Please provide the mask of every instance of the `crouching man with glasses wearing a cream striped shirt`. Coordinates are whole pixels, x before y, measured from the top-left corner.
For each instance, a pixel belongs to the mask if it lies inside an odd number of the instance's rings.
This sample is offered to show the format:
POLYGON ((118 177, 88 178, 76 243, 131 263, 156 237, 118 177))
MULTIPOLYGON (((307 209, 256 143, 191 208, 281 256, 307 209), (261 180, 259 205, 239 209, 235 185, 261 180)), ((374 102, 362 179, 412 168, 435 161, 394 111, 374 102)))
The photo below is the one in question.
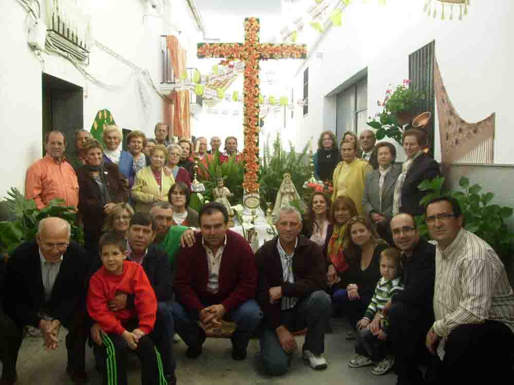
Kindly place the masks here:
POLYGON ((454 198, 432 200, 426 218, 437 242, 435 322, 426 341, 434 380, 479 383, 480 376, 490 378, 488 370, 506 378, 512 373, 514 293, 505 268, 491 246, 463 228, 454 198))

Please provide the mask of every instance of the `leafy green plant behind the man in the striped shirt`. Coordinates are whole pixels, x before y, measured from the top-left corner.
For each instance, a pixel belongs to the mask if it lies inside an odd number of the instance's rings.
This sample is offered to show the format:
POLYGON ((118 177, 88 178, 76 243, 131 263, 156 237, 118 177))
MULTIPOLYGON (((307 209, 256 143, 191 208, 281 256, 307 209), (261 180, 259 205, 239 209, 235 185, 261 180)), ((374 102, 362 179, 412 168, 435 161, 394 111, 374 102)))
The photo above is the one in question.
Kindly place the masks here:
MULTIPOLYGON (((439 197, 453 197, 457 199, 464 215, 464 228, 479 236, 498 253, 500 258, 508 258, 512 253, 511 241, 514 234, 505 223, 510 218, 513 209, 507 206, 490 204, 494 198, 492 192, 480 194, 482 187, 479 184, 470 186, 469 179, 462 177, 457 190, 443 190, 444 177, 438 177, 431 181, 426 180, 419 184, 423 191, 431 190, 421 201, 426 206, 432 199, 439 197)), ((416 217, 421 235, 428 235, 428 227, 425 224, 425 215, 416 217)))

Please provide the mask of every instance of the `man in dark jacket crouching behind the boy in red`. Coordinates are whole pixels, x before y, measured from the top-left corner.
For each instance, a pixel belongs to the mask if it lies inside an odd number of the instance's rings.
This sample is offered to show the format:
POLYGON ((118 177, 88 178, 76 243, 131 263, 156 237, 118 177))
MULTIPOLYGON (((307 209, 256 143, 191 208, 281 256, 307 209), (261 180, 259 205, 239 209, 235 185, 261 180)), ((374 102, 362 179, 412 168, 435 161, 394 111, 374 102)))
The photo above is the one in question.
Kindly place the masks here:
MULTIPOLYGON (((155 229, 156 222, 149 214, 136 213, 132 217, 128 229, 130 255, 127 259, 143 266, 157 297, 157 317, 150 337, 162 356, 164 377, 169 385, 174 385, 176 383, 176 362, 172 350, 173 334, 175 333, 171 308, 172 277, 168 255, 152 245, 155 239, 155 229)), ((119 293, 113 301, 109 302, 108 306, 112 311, 119 311, 127 306, 133 307, 134 298, 125 293, 119 293)), ((93 329, 93 334, 99 333, 97 324, 93 329)), ((102 362, 98 363, 103 364, 102 362)))

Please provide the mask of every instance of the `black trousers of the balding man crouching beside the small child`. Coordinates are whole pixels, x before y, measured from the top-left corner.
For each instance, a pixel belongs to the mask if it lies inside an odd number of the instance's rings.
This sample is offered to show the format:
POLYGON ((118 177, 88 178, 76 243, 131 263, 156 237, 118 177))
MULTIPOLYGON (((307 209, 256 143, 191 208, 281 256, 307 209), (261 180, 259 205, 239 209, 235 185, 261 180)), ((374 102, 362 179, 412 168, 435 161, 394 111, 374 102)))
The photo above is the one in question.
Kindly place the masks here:
POLYGON ((395 303, 387 313, 389 335, 393 342, 394 370, 400 384, 422 383, 419 364, 430 364, 426 347, 427 333, 434 322, 433 313, 403 303, 395 303))

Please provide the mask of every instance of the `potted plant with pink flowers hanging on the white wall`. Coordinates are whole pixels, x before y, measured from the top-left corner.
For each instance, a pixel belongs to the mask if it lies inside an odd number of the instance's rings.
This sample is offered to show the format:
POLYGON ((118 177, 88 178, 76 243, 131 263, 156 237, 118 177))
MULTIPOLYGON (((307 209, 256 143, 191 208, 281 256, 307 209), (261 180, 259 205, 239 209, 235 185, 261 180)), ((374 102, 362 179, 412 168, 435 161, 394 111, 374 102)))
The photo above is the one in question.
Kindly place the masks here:
POLYGON ((377 140, 388 137, 402 144, 404 126, 412 122, 417 105, 425 99, 424 92, 413 90, 409 87, 410 84, 409 79, 403 80, 403 84, 396 86, 394 90, 386 90, 383 102, 377 102, 383 110, 375 115, 375 119, 368 122, 370 127, 377 130, 377 140))

